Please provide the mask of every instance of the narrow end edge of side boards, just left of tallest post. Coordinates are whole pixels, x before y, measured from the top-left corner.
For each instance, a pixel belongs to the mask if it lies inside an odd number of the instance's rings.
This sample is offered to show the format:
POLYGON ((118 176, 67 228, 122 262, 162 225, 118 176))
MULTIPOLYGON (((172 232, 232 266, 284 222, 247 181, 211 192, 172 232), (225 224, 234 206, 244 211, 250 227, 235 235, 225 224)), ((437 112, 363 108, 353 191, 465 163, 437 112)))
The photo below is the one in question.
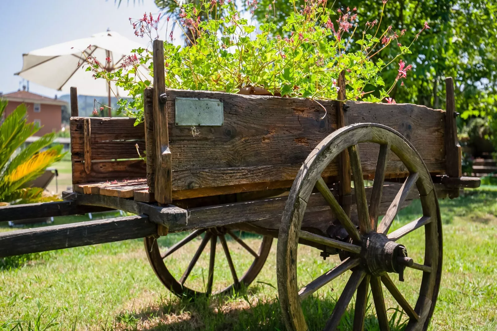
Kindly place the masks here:
POLYGON ((149 192, 155 187, 155 137, 154 137, 154 89, 145 88, 143 92, 143 109, 145 113, 145 150, 147 151, 147 185, 149 192))

